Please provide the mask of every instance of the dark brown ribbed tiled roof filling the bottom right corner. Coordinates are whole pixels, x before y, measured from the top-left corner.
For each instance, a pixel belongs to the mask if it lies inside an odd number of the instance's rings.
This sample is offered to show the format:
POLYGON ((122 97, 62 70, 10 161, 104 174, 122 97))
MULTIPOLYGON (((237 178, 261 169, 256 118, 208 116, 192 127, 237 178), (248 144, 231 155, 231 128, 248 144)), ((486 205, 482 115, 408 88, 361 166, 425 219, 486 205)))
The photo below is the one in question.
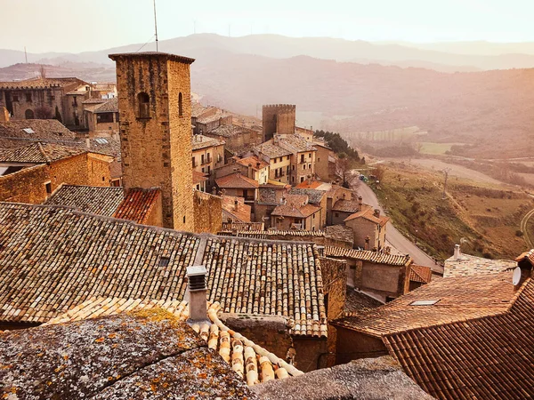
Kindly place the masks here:
MULTIPOLYGON (((456 278, 442 281, 449 279, 456 278)), ((528 279, 522 288, 507 310, 384 336, 386 348, 410 378, 438 399, 531 398, 534 282, 528 279)))

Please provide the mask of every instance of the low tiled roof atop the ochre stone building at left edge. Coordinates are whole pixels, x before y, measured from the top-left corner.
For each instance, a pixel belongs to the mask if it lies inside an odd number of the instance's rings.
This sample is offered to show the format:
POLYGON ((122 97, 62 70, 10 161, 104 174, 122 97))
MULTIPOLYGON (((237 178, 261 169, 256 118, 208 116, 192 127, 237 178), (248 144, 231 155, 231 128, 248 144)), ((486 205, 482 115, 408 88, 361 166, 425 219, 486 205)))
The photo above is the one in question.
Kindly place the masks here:
POLYGON ((61 158, 80 155, 86 151, 82 148, 37 142, 23 148, 0 149, 0 163, 52 163, 61 158))

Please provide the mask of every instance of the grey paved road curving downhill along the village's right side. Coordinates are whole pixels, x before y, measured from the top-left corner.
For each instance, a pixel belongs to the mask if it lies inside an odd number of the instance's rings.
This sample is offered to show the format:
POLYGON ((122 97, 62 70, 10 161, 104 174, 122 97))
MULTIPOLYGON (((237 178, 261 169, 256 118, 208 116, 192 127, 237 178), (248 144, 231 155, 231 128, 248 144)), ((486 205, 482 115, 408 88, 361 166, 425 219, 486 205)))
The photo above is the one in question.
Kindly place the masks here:
MULTIPOLYGON (((384 212, 384 209, 378 203, 378 199, 376 198, 375 192, 373 192, 372 188, 369 188, 368 185, 360 181, 356 191, 358 192, 358 195, 363 198, 363 203, 372 205, 373 207, 379 209, 380 212, 384 212)), ((534 212, 534 210, 532 210, 532 212, 534 212)), ((401 232, 399 232, 397 228, 393 226, 391 221, 387 223, 387 231, 385 235, 386 240, 395 249, 403 254, 409 254, 417 265, 430 267, 432 268, 433 272, 438 274, 443 273, 443 268, 441 265, 436 264, 432 257, 423 252, 417 247, 416 244, 411 243, 409 239, 403 236, 401 232)))

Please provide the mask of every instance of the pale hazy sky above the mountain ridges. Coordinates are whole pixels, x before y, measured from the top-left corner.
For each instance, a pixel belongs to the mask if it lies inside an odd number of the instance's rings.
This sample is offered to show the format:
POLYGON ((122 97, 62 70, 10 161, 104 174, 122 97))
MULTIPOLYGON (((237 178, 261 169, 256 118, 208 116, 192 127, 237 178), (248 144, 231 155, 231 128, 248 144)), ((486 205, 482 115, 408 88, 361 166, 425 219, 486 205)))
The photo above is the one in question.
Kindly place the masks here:
MULTIPOLYGON (((145 43, 152 0, 0 0, 0 48, 84 52, 145 43)), ((197 33, 368 41, 534 41, 532 0, 157 0, 159 39, 197 33), (196 23, 195 23, 196 21, 196 23)))

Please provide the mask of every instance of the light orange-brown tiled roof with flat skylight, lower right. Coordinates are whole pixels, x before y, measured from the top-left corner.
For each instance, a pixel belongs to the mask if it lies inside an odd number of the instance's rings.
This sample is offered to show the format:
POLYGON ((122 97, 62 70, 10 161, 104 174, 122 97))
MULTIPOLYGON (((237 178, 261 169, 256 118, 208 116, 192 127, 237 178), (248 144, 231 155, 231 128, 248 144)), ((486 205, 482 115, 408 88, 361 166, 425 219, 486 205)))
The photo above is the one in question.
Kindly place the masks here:
POLYGON ((380 308, 332 324, 371 336, 467 321, 505 312, 514 300, 512 273, 438 279, 380 308), (411 305, 434 301, 433 305, 411 305))

